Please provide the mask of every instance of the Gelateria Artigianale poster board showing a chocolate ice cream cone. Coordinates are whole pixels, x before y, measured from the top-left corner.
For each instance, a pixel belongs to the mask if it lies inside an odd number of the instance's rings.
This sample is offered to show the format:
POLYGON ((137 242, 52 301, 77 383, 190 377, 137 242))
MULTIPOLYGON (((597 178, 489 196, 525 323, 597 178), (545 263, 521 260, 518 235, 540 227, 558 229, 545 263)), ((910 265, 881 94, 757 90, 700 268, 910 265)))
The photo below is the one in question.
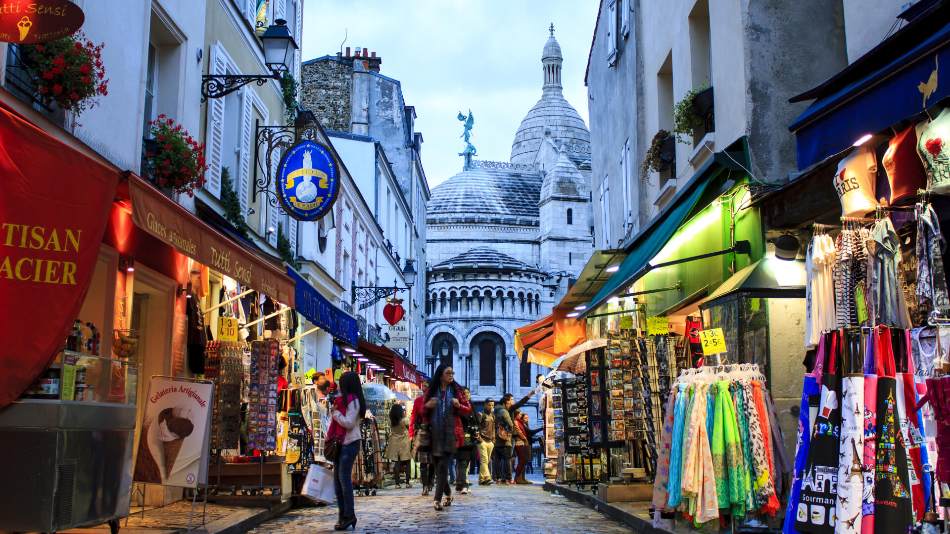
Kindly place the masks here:
POLYGON ((214 383, 153 376, 146 399, 133 480, 162 486, 204 484, 214 383))

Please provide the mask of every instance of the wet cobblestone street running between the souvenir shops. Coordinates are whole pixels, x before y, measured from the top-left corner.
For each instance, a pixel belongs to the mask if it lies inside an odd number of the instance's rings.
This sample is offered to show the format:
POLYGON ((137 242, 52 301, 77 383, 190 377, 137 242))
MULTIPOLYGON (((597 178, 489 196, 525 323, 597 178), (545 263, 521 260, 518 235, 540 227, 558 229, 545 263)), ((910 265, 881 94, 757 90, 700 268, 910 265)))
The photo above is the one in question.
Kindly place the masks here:
MULTIPOLYGON (((444 511, 432 509, 432 498, 420 495, 422 486, 380 490, 372 497, 356 497, 357 532, 447 532, 458 534, 522 534, 587 532, 630 533, 631 529, 599 512, 577 505, 542 489, 540 477, 531 486, 474 486, 469 495, 456 495, 444 511)), ((261 524, 251 534, 316 534, 333 532, 336 505, 297 508, 261 524)))

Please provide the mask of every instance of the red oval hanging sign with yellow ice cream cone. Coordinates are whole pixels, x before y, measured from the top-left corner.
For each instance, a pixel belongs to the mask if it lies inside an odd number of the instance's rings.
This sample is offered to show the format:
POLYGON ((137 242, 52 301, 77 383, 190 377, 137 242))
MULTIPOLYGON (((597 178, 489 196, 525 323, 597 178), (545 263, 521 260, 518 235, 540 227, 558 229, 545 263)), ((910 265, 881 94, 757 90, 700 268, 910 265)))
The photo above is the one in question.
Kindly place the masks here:
POLYGON ((29 45, 72 35, 85 13, 69 0, 4 0, 0 4, 0 41, 29 45))

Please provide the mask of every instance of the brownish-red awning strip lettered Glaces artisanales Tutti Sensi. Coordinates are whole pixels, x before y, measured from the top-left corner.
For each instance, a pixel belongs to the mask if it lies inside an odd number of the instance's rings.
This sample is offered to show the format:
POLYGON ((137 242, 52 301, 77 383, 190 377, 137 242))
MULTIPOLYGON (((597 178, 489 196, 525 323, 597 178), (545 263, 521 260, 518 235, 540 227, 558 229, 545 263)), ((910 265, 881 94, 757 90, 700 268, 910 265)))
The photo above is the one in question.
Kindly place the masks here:
POLYGON ((142 178, 132 175, 128 189, 136 226, 202 265, 294 307, 294 280, 282 270, 226 238, 142 178))

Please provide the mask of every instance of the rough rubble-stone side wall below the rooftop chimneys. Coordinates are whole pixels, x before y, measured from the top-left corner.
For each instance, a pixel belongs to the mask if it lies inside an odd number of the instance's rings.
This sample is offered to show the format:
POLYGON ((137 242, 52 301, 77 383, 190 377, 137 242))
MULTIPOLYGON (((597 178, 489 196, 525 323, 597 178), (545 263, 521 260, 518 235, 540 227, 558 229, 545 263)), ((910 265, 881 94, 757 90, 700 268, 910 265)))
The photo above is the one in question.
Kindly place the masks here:
POLYGON ((301 105, 314 112, 324 129, 350 132, 352 64, 326 58, 300 69, 301 105))

